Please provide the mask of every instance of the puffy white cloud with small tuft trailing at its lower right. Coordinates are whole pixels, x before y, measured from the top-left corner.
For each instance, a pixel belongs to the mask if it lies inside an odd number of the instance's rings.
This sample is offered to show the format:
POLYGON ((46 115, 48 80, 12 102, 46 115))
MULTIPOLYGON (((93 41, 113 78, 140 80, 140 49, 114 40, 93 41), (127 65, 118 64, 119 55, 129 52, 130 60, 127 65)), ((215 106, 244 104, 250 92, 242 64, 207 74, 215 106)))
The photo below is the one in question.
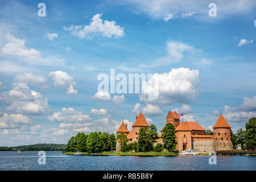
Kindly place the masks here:
POLYGON ((68 73, 63 71, 50 72, 49 77, 54 81, 53 84, 56 88, 67 90, 67 94, 77 94, 77 90, 73 88, 76 82, 73 77, 69 76, 68 73))

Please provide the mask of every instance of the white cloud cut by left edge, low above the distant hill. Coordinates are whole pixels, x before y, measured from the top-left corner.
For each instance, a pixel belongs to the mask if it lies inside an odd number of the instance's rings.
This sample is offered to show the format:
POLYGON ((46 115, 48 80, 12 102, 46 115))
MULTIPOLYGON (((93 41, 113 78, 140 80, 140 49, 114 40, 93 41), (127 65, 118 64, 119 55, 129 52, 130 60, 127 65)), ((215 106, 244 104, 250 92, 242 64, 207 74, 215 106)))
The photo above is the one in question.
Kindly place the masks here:
POLYGON ((3 116, 0 117, 0 129, 15 129, 31 123, 33 123, 33 121, 26 115, 22 114, 8 115, 3 113, 3 116))

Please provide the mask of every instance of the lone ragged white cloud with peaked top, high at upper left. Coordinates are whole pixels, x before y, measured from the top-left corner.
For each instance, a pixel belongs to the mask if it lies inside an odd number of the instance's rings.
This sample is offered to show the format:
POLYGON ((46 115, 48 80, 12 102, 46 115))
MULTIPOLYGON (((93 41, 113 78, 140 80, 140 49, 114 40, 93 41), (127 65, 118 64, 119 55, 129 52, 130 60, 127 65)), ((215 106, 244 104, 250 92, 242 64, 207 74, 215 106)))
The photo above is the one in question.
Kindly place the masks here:
POLYGON ((115 36, 116 38, 122 37, 125 35, 123 27, 115 25, 115 21, 109 22, 108 20, 101 19, 102 14, 96 14, 91 19, 89 25, 84 27, 82 26, 73 26, 67 28, 63 27, 65 31, 70 31, 71 35, 78 36, 79 38, 92 38, 94 35, 102 34, 105 37, 111 38, 115 36))

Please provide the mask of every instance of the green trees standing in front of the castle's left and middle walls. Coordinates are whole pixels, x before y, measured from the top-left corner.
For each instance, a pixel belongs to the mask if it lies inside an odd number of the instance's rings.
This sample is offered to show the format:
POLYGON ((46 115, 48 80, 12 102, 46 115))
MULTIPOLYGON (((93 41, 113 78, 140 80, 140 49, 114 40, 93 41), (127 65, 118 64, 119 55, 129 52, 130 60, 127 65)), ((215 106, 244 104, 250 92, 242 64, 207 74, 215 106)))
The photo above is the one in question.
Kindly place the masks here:
POLYGON ((149 130, 147 127, 141 127, 141 129, 139 129, 138 142, 128 144, 125 133, 122 132, 117 135, 117 140, 121 146, 121 152, 161 152, 164 148, 170 152, 175 151, 177 142, 175 139, 174 125, 167 123, 163 129, 161 138, 163 140, 163 144, 157 143, 156 146, 154 146, 156 140, 159 139, 155 125, 150 125, 149 130))

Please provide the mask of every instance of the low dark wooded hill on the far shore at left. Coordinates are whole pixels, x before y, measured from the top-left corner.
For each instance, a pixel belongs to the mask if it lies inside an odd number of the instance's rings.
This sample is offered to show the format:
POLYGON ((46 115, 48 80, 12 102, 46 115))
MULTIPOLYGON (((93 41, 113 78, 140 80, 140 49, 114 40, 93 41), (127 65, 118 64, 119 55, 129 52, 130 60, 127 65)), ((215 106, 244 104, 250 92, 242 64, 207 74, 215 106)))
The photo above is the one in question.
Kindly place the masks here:
POLYGON ((65 144, 56 143, 38 143, 28 146, 16 146, 16 147, 0 147, 0 151, 63 151, 65 144))

